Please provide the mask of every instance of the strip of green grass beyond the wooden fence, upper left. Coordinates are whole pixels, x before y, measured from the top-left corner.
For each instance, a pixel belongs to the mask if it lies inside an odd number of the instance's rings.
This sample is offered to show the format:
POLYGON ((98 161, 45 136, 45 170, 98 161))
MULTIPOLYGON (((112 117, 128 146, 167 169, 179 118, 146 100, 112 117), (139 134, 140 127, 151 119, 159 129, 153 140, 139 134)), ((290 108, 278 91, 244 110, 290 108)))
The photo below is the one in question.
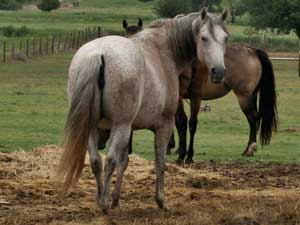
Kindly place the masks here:
POLYGON ((137 0, 88 0, 80 2, 78 8, 60 8, 50 13, 29 6, 18 11, 1 11, 0 27, 26 25, 37 34, 82 30, 88 26, 120 31, 124 18, 129 23, 137 23, 139 17, 145 24, 155 18, 152 3, 137 0))

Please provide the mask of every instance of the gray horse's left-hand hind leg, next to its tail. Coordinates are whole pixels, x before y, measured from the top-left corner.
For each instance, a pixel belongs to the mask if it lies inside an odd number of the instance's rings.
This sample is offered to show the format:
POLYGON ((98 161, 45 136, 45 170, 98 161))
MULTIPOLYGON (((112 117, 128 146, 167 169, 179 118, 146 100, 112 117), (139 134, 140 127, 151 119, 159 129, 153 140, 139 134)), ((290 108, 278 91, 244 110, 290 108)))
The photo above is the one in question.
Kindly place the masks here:
POLYGON ((93 174, 97 183, 97 202, 100 200, 102 191, 102 159, 97 152, 99 134, 97 129, 91 131, 89 136, 89 155, 93 174))

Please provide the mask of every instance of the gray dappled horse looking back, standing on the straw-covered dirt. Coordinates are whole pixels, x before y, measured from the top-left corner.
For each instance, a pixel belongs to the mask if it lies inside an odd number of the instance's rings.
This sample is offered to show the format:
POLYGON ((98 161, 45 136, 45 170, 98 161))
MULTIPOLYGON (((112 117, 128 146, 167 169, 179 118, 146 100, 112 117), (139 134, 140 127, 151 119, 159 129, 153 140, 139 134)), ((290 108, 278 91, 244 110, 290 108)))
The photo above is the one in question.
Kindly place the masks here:
POLYGON ((69 68, 70 108, 58 167, 58 176, 65 178, 65 190, 79 179, 88 149, 99 207, 103 212, 109 208, 115 167, 111 207, 118 206, 131 129, 151 129, 155 134, 155 199, 160 208, 165 207, 165 152, 178 105, 178 77, 198 58, 208 65, 212 80, 223 79, 226 17, 227 12, 218 17, 202 9, 156 21, 130 39, 106 36, 93 40, 76 52, 69 68), (102 185, 102 159, 97 147, 102 138, 99 130, 105 129, 111 132, 102 185))

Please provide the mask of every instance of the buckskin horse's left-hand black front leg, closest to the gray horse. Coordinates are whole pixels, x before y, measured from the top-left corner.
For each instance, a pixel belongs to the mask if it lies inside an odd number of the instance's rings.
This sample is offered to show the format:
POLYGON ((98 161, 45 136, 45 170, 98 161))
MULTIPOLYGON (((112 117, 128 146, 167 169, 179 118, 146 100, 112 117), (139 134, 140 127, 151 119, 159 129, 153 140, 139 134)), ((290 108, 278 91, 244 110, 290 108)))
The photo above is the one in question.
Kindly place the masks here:
POLYGON ((178 108, 175 116, 175 124, 179 136, 179 146, 178 146, 178 159, 177 163, 183 163, 186 156, 186 132, 187 132, 187 116, 184 112, 183 99, 180 98, 178 102, 178 108))

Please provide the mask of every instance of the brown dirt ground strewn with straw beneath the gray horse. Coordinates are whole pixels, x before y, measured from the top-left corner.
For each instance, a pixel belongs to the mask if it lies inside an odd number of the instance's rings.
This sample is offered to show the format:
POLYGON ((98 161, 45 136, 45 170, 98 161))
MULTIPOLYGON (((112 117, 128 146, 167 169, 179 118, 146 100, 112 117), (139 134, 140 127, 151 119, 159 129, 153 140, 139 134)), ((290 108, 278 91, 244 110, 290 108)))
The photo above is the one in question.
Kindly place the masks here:
POLYGON ((300 165, 167 164, 169 210, 154 201, 152 161, 130 156, 121 206, 99 212, 86 160, 80 182, 67 195, 53 180, 61 149, 0 153, 0 224, 300 224, 300 165))

